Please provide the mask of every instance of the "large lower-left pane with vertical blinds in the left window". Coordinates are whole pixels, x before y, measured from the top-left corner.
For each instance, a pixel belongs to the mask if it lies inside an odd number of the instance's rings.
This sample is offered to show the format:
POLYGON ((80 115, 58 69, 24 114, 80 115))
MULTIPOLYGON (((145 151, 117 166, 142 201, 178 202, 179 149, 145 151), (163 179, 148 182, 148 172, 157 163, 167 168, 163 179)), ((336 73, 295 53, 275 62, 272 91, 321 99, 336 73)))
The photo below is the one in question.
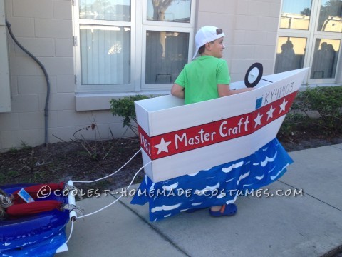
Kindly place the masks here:
POLYGON ((130 84, 130 28, 80 25, 82 84, 130 84))

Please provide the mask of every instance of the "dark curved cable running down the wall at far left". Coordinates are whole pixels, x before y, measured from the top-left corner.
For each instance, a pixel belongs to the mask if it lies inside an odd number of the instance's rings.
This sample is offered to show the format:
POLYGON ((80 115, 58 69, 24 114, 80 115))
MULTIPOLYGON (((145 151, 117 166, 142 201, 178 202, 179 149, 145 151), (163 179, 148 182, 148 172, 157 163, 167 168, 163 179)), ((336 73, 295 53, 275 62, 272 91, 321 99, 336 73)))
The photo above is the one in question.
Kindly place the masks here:
POLYGON ((48 73, 46 72, 46 69, 43 66, 43 64, 41 63, 41 61, 39 61, 36 58, 36 56, 33 56, 33 54, 31 54, 29 51, 27 51, 24 48, 24 46, 21 46, 21 44, 16 40, 16 37, 13 35, 13 33, 11 31, 11 24, 7 20, 6 20, 6 26, 7 26, 7 29, 9 30, 9 34, 11 35, 11 38, 14 40, 14 42, 21 48, 21 50, 23 50, 26 54, 28 54, 28 56, 31 56, 31 58, 34 61, 36 61, 36 63, 43 70, 43 73, 44 73, 44 76, 45 76, 45 79, 46 79, 46 86, 47 86, 46 101, 45 101, 45 108, 44 108, 44 116, 45 116, 45 146, 48 146, 48 100, 50 98, 50 81, 48 79, 48 73))

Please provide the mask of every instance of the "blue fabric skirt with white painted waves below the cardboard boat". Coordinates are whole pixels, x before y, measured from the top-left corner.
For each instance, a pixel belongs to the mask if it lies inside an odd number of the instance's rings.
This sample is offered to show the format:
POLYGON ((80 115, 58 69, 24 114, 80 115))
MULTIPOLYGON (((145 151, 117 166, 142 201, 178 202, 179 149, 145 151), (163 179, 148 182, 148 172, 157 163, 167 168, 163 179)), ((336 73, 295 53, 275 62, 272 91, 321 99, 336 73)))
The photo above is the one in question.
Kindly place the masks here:
MULTIPOLYGON (((225 153, 229 154, 229 153, 225 153)), ((190 208, 234 203, 284 175, 293 160, 274 138, 250 156, 185 176, 140 183, 131 204, 149 203, 150 221, 160 221, 190 208)))

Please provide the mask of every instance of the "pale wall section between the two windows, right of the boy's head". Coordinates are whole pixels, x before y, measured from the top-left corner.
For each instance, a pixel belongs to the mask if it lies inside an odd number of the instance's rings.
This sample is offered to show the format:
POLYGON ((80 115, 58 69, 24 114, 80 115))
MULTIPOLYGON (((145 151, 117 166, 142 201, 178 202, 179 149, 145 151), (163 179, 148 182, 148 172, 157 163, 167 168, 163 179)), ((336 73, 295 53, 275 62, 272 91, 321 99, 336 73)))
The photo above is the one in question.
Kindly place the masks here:
POLYGON ((224 30, 224 59, 232 81, 243 80, 256 61, 265 75, 274 73, 281 0, 202 0, 197 8, 197 29, 212 24, 224 30))

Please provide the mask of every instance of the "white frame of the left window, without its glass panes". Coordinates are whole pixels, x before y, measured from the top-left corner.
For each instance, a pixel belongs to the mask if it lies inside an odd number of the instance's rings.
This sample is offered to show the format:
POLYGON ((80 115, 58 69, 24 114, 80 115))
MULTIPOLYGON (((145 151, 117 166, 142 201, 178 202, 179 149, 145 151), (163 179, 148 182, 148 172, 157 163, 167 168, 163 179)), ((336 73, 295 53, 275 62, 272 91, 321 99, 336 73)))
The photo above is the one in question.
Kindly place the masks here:
POLYGON ((155 94, 167 93, 173 84, 145 84, 145 58, 146 58, 146 31, 175 31, 189 33, 188 62, 191 61, 194 29, 195 29, 195 7, 196 1, 191 0, 190 22, 180 23, 172 21, 148 21, 147 0, 131 0, 130 21, 106 21, 79 18, 80 0, 73 4, 73 36, 74 36, 74 74, 76 94, 155 94), (81 84, 81 37, 80 25, 101 26, 129 26, 130 35, 130 84, 115 85, 83 85, 81 84))

